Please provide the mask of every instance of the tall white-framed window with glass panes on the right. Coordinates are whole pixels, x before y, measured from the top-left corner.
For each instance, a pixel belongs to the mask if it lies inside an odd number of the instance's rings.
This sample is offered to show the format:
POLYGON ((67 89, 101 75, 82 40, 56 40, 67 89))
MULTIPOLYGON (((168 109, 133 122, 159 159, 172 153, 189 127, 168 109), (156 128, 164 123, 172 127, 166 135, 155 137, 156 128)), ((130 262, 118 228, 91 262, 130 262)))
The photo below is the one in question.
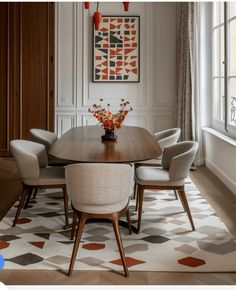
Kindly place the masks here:
POLYGON ((213 4, 213 125, 236 136, 236 2, 213 4))

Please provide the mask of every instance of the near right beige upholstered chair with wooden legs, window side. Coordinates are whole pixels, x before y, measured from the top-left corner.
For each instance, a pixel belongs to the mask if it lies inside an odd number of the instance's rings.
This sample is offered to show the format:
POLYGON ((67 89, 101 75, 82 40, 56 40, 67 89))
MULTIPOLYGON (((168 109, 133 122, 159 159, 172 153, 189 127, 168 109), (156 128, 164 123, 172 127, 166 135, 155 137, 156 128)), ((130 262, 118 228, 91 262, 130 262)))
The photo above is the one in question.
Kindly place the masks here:
POLYGON ((197 149, 197 142, 179 142, 164 148, 162 168, 139 167, 136 169, 135 179, 138 185, 138 231, 140 231, 141 227, 143 194, 145 189, 176 190, 182 202, 183 208, 187 212, 192 229, 195 230, 184 190, 184 180, 188 176, 189 169, 196 156, 197 149))

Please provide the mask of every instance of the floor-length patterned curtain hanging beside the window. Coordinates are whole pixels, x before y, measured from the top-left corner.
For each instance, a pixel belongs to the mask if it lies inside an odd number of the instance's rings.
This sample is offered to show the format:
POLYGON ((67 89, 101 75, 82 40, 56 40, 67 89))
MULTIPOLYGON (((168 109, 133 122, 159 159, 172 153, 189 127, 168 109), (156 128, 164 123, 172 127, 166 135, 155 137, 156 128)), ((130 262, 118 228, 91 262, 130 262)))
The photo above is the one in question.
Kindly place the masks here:
POLYGON ((199 91, 199 7, 199 3, 194 2, 179 3, 176 53, 176 125, 181 128, 181 140, 198 141, 196 165, 203 164, 199 91))

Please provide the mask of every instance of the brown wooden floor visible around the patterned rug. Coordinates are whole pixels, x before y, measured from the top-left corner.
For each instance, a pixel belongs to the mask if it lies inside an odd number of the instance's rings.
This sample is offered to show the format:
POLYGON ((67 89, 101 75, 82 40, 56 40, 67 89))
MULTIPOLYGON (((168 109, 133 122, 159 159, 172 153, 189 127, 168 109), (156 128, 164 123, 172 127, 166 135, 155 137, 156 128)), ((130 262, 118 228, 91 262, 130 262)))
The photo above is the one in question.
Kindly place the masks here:
MULTIPOLYGON (((196 186, 236 236, 236 196, 207 168, 190 173, 196 186)), ((0 218, 8 211, 20 193, 21 185, 14 162, 0 158, 0 218)), ((236 262, 235 262, 236 263, 236 262)), ((0 281, 7 285, 235 285, 236 273, 176 273, 133 272, 125 278, 123 272, 74 271, 69 278, 60 271, 3 270, 0 281)))

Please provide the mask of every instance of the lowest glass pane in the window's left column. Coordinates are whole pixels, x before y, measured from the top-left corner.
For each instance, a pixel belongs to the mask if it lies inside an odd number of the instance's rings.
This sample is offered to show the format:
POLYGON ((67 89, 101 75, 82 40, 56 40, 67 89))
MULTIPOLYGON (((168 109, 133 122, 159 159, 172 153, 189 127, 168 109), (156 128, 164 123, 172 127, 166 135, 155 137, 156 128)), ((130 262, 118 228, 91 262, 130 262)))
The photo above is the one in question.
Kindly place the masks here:
POLYGON ((224 78, 217 78, 213 81, 214 92, 214 115, 218 120, 224 120, 224 78))

